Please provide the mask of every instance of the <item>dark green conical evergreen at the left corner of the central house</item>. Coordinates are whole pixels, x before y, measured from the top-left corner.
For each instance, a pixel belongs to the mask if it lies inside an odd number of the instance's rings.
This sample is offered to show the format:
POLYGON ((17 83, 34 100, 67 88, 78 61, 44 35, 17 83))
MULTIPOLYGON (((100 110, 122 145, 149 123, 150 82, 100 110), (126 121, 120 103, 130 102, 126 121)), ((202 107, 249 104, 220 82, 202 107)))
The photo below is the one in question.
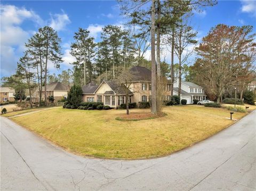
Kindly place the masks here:
POLYGON ((77 108, 79 104, 82 102, 82 94, 83 90, 81 86, 71 86, 67 96, 68 104, 73 105, 74 108, 77 108))

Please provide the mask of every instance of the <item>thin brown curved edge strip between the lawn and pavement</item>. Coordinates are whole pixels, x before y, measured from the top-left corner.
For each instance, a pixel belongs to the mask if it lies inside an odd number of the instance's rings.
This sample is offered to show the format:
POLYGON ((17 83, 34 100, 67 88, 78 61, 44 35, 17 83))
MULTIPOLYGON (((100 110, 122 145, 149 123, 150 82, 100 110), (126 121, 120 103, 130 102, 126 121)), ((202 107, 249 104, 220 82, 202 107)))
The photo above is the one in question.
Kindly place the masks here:
POLYGON ((249 115, 250 113, 254 112, 255 110, 252 110, 251 112, 247 112, 242 118, 240 119, 237 119, 236 121, 233 121, 233 123, 229 124, 227 127, 221 129, 220 131, 216 132, 215 134, 209 136, 209 137, 206 137, 204 139, 201 139, 201 140, 198 140, 197 142, 191 144, 191 145, 188 145, 186 147, 183 147, 181 148, 180 150, 177 150, 177 151, 173 151, 171 153, 167 153, 167 154, 161 154, 161 155, 154 155, 154 156, 148 156, 148 157, 137 157, 137 158, 117 158, 117 157, 100 157, 100 156, 94 156, 94 155, 86 155, 86 154, 81 154, 81 153, 78 153, 78 152, 75 152, 75 151, 72 151, 70 150, 69 148, 65 147, 65 146, 62 146, 56 142, 54 142, 53 140, 51 139, 48 139, 40 134, 38 134, 37 132, 33 131, 33 130, 30 130, 28 129, 27 127, 24 127, 24 126, 21 126, 20 124, 16 123, 15 121, 12 120, 12 118, 8 118, 8 117, 4 117, 4 118, 7 118, 9 120, 11 120, 12 122, 14 122, 15 124, 17 124, 18 126, 32 132, 34 135, 36 135, 37 137, 43 139, 43 140, 46 140, 46 142, 54 145, 54 146, 58 146, 58 148, 61 148, 63 151, 66 151, 68 152, 69 154, 75 154, 77 156, 82 156, 82 157, 85 157, 87 159, 103 159, 103 160, 114 160, 114 161, 119 161, 119 160, 123 160, 123 161, 135 161, 135 160, 150 160, 150 159, 158 159, 158 158, 162 158, 162 157, 165 157, 165 156, 170 156, 172 154, 175 154, 175 153, 179 153, 179 152, 182 152, 184 150, 187 150, 188 148, 190 148, 191 146, 194 146, 198 143, 201 143, 203 142, 204 140, 208 139, 208 138, 211 138, 217 134, 219 134, 221 131, 223 130, 226 130, 228 129, 230 126, 233 126, 233 124, 237 123, 238 121, 240 121, 241 119, 243 119, 244 117, 246 117, 247 115, 249 115))

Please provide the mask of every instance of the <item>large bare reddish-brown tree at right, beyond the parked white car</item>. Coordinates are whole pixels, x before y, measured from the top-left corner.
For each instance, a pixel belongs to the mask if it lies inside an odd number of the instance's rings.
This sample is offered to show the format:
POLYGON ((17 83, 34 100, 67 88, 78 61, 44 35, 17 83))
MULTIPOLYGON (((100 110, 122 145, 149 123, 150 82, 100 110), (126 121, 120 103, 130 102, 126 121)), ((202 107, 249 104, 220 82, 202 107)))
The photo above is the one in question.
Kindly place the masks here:
MULTIPOLYGON (((195 80, 207 87, 206 93, 216 98, 218 103, 227 85, 233 84, 237 87, 241 63, 250 62, 246 54, 255 50, 254 47, 245 48, 247 47, 244 40, 246 35, 245 27, 218 24, 196 48, 199 57, 193 67, 195 80)), ((252 39, 249 41, 252 42, 252 39)), ((255 46, 255 43, 251 45, 255 46)))

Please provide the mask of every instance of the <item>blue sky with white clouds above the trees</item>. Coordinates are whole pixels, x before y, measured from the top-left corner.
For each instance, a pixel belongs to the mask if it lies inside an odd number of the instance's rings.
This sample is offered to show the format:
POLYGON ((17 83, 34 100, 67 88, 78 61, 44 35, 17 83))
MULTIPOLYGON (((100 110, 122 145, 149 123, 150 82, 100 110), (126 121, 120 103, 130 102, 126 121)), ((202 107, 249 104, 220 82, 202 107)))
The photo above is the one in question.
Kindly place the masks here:
MULTIPOLYGON (((88 29, 98 42, 103 26, 124 27, 126 21, 117 1, 1 1, 1 78, 15 73, 17 61, 25 51, 25 43, 40 27, 51 26, 62 40, 64 62, 60 69, 49 66, 50 73, 60 73, 71 69, 70 63, 75 61, 69 51, 78 28, 88 29)), ((194 12, 191 18, 192 26, 198 31, 198 41, 219 23, 252 25, 253 32, 256 32, 256 1, 218 1, 217 5, 194 12)), ((170 52, 165 48, 162 57, 170 64, 170 52)), ((191 63, 194 58, 195 55, 190 57, 191 63)), ((146 52, 146 59, 150 59, 150 50, 146 52)))

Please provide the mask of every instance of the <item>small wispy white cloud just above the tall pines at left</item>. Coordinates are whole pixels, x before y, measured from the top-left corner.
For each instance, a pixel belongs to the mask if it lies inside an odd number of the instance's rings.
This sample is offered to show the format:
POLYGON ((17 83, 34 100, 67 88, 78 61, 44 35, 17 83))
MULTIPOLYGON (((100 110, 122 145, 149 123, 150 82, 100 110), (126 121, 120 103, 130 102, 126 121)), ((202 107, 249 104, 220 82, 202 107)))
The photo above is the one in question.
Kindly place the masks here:
POLYGON ((65 30, 67 24, 70 23, 68 15, 62 11, 62 14, 51 14, 50 27, 54 30, 65 30))

